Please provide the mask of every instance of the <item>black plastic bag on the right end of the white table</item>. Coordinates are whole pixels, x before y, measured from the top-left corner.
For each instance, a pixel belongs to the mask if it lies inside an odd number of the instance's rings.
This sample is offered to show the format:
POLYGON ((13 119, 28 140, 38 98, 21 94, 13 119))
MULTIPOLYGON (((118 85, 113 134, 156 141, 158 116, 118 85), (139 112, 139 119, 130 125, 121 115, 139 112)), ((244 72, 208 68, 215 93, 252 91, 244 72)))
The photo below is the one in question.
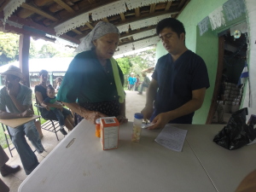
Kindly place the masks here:
POLYGON ((224 126, 222 131, 218 132, 213 142, 229 150, 241 148, 253 142, 256 137, 256 130, 253 129, 253 123, 247 125, 247 114, 247 108, 242 108, 233 113, 228 124, 224 126))

